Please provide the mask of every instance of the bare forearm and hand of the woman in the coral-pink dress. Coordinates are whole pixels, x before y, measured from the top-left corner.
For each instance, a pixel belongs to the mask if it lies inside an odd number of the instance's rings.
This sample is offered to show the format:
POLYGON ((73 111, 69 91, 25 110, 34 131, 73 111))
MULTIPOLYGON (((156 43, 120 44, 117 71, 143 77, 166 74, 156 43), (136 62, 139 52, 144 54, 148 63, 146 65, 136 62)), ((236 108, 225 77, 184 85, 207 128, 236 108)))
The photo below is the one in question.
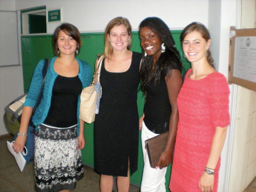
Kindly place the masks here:
MULTIPOLYGON (((214 172, 215 167, 218 163, 220 158, 220 153, 222 151, 225 138, 227 134, 227 127, 216 127, 215 134, 211 144, 211 152, 209 155, 209 159, 206 164, 206 169, 211 170, 214 172)), ((213 191, 213 184, 214 184, 214 175, 208 175, 205 171, 201 175, 199 181, 199 188, 201 191, 213 191)))

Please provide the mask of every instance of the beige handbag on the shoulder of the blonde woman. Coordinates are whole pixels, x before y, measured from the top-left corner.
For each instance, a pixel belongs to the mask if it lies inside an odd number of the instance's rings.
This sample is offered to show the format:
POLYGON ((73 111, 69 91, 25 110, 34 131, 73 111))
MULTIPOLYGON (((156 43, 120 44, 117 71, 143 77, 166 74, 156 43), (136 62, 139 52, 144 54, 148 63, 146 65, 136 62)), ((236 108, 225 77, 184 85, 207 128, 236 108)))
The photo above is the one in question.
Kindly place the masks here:
POLYGON ((95 104, 99 94, 95 91, 94 79, 97 72, 97 82, 100 83, 100 69, 102 60, 103 57, 101 56, 98 60, 98 67, 93 75, 92 83, 90 86, 83 88, 80 96, 81 101, 79 106, 79 119, 87 123, 92 123, 95 120, 95 104))

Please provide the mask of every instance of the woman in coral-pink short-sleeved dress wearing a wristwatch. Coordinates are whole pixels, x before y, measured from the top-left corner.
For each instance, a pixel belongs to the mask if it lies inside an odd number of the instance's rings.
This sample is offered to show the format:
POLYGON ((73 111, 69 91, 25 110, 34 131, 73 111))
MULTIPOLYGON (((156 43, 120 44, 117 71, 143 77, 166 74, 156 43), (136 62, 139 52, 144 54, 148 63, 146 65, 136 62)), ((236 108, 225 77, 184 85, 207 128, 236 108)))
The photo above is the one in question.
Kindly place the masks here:
POLYGON ((181 33, 192 69, 178 95, 178 131, 170 181, 172 192, 217 192, 222 151, 229 125, 229 88, 217 72, 206 27, 192 22, 181 33))

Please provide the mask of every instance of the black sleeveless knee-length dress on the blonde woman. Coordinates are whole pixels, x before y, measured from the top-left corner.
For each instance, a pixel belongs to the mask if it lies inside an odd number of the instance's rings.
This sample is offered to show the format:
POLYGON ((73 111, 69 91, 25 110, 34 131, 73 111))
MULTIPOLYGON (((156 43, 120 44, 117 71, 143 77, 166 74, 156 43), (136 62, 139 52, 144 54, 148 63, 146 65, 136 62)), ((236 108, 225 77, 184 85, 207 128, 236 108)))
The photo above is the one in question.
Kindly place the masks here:
POLYGON ((140 60, 141 53, 133 52, 131 66, 125 72, 108 72, 102 62, 102 96, 94 122, 94 168, 99 174, 127 176, 128 161, 131 174, 137 170, 140 60))

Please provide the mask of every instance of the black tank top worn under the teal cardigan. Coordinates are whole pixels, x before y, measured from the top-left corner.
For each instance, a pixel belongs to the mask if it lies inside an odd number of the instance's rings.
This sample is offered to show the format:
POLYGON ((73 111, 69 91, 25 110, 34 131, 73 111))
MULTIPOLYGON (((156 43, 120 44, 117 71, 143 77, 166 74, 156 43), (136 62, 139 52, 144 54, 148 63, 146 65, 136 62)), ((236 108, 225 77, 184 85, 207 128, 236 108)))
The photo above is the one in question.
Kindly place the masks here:
POLYGON ((55 127, 77 124, 77 102, 82 87, 78 76, 58 75, 53 85, 50 109, 44 123, 55 127))

